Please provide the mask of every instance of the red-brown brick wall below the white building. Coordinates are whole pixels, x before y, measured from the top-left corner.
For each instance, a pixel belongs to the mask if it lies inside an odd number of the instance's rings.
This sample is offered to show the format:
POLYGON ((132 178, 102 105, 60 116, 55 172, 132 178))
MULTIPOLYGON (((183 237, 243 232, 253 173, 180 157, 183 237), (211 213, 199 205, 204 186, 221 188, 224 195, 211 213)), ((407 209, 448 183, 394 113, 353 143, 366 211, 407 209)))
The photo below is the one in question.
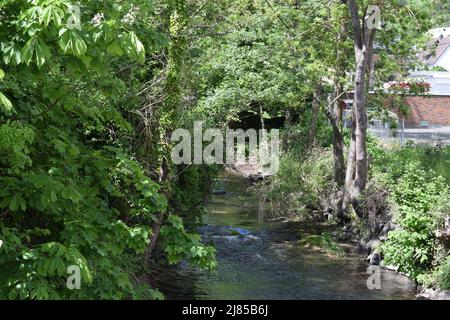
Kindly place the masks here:
POLYGON ((405 99, 411 108, 405 119, 406 126, 450 126, 450 96, 411 96, 405 99))

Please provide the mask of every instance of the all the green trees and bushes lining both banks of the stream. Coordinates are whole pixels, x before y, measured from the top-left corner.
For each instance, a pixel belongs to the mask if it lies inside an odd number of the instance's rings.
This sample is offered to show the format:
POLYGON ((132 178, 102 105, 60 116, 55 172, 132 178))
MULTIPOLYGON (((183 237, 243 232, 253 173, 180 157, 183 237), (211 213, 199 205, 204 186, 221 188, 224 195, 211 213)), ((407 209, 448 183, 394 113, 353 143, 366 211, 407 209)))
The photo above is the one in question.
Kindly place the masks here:
POLYGON ((399 227, 384 262, 449 288, 449 149, 379 147, 364 118, 387 115, 385 93, 348 77, 403 79, 448 16, 443 1, 381 2, 369 32, 356 26, 370 1, 2 0, 0 299, 158 299, 148 264, 213 269, 195 227, 219 168, 174 165, 170 133, 248 114, 284 119, 280 171, 259 190, 275 213, 328 210, 341 228, 387 210, 399 227), (350 90, 353 132, 336 102, 350 90))

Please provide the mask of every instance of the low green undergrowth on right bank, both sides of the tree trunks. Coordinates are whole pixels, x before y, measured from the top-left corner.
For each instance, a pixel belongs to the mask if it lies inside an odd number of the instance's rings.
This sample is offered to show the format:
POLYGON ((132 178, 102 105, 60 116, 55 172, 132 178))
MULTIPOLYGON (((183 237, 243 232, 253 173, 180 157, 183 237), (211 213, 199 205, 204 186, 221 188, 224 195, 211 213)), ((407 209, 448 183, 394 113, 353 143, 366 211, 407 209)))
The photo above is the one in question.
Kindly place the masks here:
MULTIPOLYGON (((367 242, 378 239, 377 224, 393 221, 396 229, 373 250, 383 256, 382 264, 426 287, 446 290, 450 289, 448 240, 441 230, 448 228, 450 210, 449 152, 449 147, 383 149, 370 140, 371 170, 364 213, 362 219, 352 218, 357 222, 358 236, 367 242)), ((328 215, 339 193, 332 182, 331 165, 327 148, 314 150, 301 162, 287 154, 278 175, 260 192, 273 202, 278 214, 303 219, 310 217, 311 211, 328 215)), ((335 225, 333 219, 330 222, 335 225)), ((338 237, 345 238, 338 230, 338 237)))

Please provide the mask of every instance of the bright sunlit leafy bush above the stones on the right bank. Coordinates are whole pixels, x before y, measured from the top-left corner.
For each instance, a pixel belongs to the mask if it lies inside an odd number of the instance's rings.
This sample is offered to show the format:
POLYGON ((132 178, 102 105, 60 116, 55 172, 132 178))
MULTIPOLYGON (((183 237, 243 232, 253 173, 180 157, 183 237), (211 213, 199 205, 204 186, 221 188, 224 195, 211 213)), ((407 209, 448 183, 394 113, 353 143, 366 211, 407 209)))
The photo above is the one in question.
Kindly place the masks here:
POLYGON ((448 187, 444 178, 412 162, 390 189, 400 227, 390 232, 382 245, 384 264, 395 265, 399 271, 420 279, 432 269, 439 250, 435 231, 443 217, 448 187))

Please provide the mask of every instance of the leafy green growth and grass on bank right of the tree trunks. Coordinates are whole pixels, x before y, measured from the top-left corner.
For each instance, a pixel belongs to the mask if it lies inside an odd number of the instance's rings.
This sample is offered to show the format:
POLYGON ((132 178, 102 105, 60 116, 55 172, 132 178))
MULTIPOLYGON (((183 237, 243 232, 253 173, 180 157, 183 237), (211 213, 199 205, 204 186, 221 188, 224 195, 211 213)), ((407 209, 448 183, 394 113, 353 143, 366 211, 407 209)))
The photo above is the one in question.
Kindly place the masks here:
POLYGON ((446 256, 436 231, 448 215, 448 181, 432 169, 432 163, 435 168, 440 164, 433 162, 430 148, 408 147, 394 152, 374 146, 371 149, 373 179, 388 188, 399 225, 381 247, 384 264, 397 266, 422 283, 430 282, 426 279, 446 256), (423 164, 417 161, 420 159, 423 164))

